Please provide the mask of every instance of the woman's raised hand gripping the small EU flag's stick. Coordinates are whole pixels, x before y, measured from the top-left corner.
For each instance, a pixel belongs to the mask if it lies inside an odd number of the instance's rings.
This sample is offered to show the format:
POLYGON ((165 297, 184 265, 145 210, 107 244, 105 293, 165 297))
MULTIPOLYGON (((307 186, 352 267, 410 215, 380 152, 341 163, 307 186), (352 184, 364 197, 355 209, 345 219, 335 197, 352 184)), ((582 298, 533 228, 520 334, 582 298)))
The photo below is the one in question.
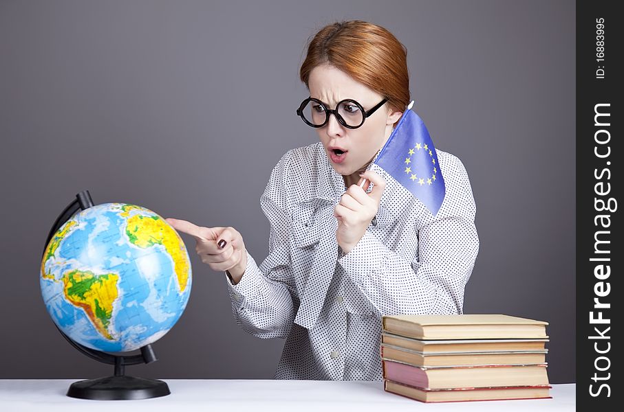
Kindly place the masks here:
POLYGON ((345 253, 349 253, 366 233, 368 225, 377 214, 381 195, 386 188, 385 180, 372 170, 367 170, 360 176, 362 179, 358 184, 351 185, 334 208, 334 216, 338 219, 336 240, 345 253), (364 188, 360 187, 363 179, 374 184, 368 194, 368 184, 364 188))

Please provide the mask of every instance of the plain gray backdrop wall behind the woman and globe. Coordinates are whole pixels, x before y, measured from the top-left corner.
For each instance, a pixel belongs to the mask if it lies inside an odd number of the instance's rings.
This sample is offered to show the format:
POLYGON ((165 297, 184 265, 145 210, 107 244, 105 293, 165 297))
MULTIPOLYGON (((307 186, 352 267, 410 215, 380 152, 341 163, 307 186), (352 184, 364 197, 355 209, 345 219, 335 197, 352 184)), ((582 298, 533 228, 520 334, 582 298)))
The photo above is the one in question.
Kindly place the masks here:
MULTIPOLYGON (((65 342, 39 289, 80 190, 233 226, 261 262, 270 170, 316 141, 294 114, 305 43, 336 19, 407 46, 415 110, 469 172, 481 248, 464 312, 549 321, 550 380, 574 382, 574 2, 476 0, 0 1, 0 378, 112 372, 65 342)), ((283 341, 237 327, 224 276, 184 240, 189 305, 160 360, 128 372, 272 378, 283 341)))

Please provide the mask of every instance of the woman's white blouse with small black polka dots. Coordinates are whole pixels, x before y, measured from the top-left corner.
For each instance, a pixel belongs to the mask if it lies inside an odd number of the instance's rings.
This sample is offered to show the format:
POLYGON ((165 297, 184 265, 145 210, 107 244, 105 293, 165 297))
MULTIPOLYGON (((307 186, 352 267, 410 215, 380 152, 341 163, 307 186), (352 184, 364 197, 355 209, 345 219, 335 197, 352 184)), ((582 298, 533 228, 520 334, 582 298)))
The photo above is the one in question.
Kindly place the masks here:
POLYGON ((347 254, 333 214, 345 183, 323 145, 290 150, 277 163, 260 198, 269 254, 260 266, 248 255, 238 284, 224 277, 237 324, 286 339, 276 379, 382 380, 382 316, 462 313, 479 251, 476 205, 460 159, 436 152, 446 183, 438 214, 373 164, 386 189, 347 254))

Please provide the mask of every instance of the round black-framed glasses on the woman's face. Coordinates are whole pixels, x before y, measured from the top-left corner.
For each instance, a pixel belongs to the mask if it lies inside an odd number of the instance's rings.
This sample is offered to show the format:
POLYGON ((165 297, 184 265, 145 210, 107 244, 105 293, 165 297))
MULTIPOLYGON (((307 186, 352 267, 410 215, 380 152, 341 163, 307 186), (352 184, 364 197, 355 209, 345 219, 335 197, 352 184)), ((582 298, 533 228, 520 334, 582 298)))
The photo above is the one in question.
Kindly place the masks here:
POLYGON ((301 102, 297 109, 297 115, 301 116, 303 122, 308 126, 323 127, 330 121, 330 115, 333 113, 338 123, 353 129, 362 126, 365 119, 375 113, 387 101, 384 99, 369 111, 364 111, 362 105, 353 99, 341 100, 336 104, 336 108, 331 109, 319 99, 307 98, 301 102))

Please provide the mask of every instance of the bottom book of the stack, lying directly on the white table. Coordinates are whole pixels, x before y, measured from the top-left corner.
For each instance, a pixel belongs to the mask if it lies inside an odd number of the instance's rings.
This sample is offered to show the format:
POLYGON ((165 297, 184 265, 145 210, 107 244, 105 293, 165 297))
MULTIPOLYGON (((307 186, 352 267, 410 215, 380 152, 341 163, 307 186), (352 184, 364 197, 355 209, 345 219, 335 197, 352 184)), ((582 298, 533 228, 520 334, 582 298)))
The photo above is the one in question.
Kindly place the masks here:
POLYGON ((550 386, 488 387, 462 389, 423 389, 391 380, 384 381, 384 390, 420 402, 463 402, 468 400, 548 399, 550 386))

